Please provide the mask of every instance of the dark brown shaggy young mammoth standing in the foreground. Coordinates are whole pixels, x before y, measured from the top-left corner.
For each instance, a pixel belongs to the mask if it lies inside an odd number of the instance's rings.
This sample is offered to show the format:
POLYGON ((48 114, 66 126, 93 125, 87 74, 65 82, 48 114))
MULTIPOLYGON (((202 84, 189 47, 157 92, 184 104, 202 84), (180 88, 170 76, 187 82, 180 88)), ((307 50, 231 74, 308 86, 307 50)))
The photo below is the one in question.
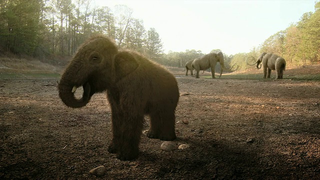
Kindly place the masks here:
POLYGON ((84 42, 61 76, 59 97, 65 105, 82 107, 97 92, 106 91, 111 107, 110 153, 121 160, 138 155, 143 116, 150 116, 147 136, 175 139, 175 107, 179 91, 175 77, 137 52, 118 50, 106 36, 84 42), (83 87, 80 99, 74 97, 83 87))

